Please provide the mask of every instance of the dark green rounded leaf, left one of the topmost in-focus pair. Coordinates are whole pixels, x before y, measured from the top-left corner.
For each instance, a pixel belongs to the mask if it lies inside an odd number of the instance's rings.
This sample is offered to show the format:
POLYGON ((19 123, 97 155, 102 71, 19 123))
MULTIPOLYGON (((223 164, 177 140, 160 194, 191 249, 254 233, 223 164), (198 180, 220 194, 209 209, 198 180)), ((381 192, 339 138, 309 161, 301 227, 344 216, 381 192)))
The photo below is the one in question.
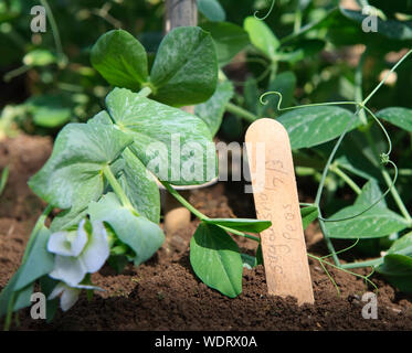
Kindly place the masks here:
POLYGON ((148 81, 146 51, 124 30, 103 34, 92 49, 91 62, 113 86, 138 89, 148 81))

